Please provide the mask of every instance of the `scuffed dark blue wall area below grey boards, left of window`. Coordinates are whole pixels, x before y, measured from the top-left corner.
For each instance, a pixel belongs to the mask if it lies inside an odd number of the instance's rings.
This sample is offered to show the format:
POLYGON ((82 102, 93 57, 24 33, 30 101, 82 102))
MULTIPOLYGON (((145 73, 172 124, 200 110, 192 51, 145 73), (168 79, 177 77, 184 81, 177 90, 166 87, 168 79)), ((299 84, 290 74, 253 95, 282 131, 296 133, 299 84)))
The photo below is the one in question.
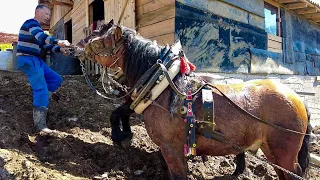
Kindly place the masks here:
POLYGON ((267 33, 176 2, 176 39, 200 71, 250 72, 250 48, 267 49, 267 33))

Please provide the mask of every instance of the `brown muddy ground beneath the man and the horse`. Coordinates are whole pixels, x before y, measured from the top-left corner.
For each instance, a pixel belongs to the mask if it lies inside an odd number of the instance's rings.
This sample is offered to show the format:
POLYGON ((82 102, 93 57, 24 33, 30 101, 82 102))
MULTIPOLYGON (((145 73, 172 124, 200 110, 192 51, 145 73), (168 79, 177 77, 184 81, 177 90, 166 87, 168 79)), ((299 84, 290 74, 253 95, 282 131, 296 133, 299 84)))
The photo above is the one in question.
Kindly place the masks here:
MULTIPOLYGON (((91 77, 94 84, 97 79, 91 77)), ((33 134, 26 77, 0 71, 0 179, 167 179, 165 161, 148 137, 142 116, 131 117, 134 137, 124 151, 113 145, 108 121, 121 102, 95 95, 82 76, 64 76, 57 96, 49 107, 48 125, 59 133, 33 134)), ((320 129, 314 132, 320 134, 320 129)), ((320 155, 316 144, 311 151, 320 155)), ((272 166, 251 155, 246 161, 238 179, 277 179, 272 166)), ((234 168, 232 155, 207 161, 196 157, 188 161, 188 178, 234 179, 229 176, 234 168)), ((319 172, 311 167, 308 179, 320 179, 319 172)))

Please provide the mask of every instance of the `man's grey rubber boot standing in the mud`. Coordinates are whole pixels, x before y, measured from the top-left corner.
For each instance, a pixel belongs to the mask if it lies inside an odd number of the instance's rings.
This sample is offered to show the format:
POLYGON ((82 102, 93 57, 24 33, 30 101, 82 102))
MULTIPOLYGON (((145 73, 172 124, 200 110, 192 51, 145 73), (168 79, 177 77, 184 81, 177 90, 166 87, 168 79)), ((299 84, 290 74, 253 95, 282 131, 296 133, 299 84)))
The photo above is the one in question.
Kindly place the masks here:
POLYGON ((36 132, 54 133, 56 130, 47 128, 47 112, 48 108, 44 106, 33 108, 33 123, 36 132))

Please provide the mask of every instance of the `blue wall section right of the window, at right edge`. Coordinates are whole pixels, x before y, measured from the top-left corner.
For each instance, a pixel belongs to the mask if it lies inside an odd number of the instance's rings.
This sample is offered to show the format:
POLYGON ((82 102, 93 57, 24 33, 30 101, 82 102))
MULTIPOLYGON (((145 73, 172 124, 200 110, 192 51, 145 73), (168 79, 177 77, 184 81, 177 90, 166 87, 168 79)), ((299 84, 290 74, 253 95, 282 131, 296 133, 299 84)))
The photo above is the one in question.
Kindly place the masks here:
POLYGON ((320 26, 290 11, 281 14, 286 63, 296 74, 320 75, 320 26))

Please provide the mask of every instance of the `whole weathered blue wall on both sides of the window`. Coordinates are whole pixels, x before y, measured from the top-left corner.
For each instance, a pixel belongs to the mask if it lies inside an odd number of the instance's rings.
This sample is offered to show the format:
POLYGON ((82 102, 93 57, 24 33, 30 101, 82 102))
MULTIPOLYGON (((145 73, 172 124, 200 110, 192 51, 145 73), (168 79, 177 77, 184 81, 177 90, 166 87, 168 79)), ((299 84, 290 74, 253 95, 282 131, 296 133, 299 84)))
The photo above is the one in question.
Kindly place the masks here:
POLYGON ((177 0, 175 39, 199 71, 320 75, 319 25, 281 9, 283 53, 267 51, 263 2, 177 0))

